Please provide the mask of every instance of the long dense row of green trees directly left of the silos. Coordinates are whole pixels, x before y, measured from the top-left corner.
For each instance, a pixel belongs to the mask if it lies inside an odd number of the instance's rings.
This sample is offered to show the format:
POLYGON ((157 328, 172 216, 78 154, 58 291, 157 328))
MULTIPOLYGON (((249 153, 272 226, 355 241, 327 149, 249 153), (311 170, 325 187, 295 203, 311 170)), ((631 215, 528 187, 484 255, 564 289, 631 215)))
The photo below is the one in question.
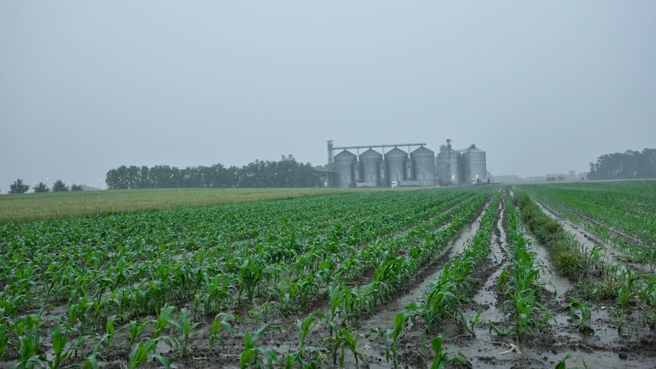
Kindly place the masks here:
POLYGON ((220 163, 183 169, 171 165, 121 165, 107 172, 105 182, 108 189, 314 187, 319 184, 319 176, 310 163, 255 160, 243 167, 220 163))

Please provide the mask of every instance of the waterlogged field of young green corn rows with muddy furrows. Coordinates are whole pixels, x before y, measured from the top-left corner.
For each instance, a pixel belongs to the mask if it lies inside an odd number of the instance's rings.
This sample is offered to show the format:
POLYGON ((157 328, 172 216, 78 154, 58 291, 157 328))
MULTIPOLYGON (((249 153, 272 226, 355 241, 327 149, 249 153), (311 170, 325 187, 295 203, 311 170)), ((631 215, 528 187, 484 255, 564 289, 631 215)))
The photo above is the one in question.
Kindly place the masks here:
POLYGON ((654 193, 354 191, 8 223, 0 368, 653 368, 654 193))

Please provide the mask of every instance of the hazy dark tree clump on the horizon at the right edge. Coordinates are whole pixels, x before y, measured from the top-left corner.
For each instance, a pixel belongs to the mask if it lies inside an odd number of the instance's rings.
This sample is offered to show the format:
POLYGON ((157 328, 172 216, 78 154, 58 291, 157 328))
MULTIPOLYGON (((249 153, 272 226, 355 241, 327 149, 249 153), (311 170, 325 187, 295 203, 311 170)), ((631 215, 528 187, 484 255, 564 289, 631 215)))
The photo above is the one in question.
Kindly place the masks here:
POLYGON ((590 163, 588 179, 656 178, 656 148, 604 154, 590 163))

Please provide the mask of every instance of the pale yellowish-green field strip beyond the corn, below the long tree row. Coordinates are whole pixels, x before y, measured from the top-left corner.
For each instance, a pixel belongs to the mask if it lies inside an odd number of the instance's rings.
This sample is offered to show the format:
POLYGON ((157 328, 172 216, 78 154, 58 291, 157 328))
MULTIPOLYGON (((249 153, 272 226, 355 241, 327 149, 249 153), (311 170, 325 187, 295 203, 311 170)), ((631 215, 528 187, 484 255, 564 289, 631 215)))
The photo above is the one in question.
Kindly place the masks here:
MULTIPOLYGON (((408 189, 412 188, 402 190, 408 189)), ((3 195, 0 224, 382 190, 392 188, 166 188, 3 195)))

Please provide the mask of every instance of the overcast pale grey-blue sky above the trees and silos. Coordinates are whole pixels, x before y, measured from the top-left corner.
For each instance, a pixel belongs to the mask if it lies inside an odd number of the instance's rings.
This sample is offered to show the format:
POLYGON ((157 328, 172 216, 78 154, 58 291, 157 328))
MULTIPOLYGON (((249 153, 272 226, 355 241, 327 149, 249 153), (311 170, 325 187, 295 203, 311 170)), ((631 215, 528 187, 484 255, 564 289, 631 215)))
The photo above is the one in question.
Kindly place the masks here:
POLYGON ((493 175, 656 146, 656 1, 0 2, 0 188, 447 138, 493 175), (394 141, 394 142, 392 142, 394 141))

